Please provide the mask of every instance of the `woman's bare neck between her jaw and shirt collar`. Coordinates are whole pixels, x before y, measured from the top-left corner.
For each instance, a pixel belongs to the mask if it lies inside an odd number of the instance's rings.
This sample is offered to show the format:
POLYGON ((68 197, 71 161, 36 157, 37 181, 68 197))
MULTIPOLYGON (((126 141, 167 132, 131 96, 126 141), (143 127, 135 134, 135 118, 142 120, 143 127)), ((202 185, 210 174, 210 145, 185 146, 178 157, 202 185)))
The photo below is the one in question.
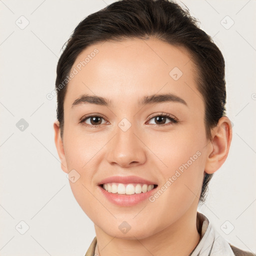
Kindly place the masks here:
POLYGON ((140 240, 112 237, 94 225, 97 237, 95 252, 100 256, 188 256, 200 239, 196 229, 196 209, 189 208, 171 225, 140 240))

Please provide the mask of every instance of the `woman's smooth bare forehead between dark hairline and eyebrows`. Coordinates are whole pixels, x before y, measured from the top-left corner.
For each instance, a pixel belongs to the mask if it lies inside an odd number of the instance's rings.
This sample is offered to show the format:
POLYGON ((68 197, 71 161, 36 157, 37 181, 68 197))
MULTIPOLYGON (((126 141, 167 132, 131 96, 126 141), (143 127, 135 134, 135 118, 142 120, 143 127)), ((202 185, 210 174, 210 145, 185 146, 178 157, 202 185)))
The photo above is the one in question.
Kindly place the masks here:
POLYGON ((199 94, 194 92, 196 69, 189 51, 158 39, 92 44, 78 55, 70 71, 74 70, 66 91, 68 105, 84 93, 113 102, 158 91, 185 98, 189 93, 199 94))

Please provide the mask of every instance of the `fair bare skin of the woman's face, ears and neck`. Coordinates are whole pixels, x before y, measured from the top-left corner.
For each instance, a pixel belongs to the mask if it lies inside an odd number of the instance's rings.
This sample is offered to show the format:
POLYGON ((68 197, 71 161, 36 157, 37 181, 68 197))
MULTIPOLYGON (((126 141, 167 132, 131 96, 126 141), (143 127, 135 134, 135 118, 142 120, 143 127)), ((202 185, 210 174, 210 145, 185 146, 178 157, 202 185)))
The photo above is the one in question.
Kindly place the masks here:
MULTIPOLYGON (((80 175, 69 183, 94 223, 101 256, 187 256, 199 240, 196 211, 203 174, 215 172, 225 161, 231 123, 221 117, 212 128, 212 141, 206 138, 204 103, 194 81, 193 62, 184 48, 152 38, 98 43, 83 50, 73 67, 95 48, 99 52, 68 83, 63 138, 58 121, 54 122, 61 168, 66 173, 75 169, 80 175), (183 73, 177 80, 169 75, 173 67, 183 73), (173 93, 186 104, 138 104, 144 96, 162 93, 173 93), (107 98, 111 104, 72 107, 82 94, 107 98), (98 127, 79 123, 91 113, 103 116, 98 127), (162 113, 178 122, 152 118, 162 113), (126 131, 118 126, 123 118, 131 124, 126 131), (98 186, 100 180, 113 175, 136 175, 152 180, 157 190, 197 151, 200 156, 153 202, 146 199, 119 206, 103 196, 98 186), (130 226, 126 233, 118 228, 123 221, 130 226)), ((92 121, 87 118, 85 124, 95 125, 92 121)))

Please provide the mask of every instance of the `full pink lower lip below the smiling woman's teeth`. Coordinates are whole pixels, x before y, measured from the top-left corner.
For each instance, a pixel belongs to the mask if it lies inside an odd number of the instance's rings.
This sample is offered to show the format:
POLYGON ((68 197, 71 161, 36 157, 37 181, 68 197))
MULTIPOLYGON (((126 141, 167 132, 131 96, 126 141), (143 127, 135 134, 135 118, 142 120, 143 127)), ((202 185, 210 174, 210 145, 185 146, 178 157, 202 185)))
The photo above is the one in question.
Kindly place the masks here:
POLYGON ((99 189, 103 193, 103 195, 112 203, 117 204, 119 206, 132 206, 137 204, 145 199, 147 199, 152 193, 155 192, 155 188, 147 191, 145 193, 139 194, 117 194, 107 192, 103 187, 99 186, 99 189))

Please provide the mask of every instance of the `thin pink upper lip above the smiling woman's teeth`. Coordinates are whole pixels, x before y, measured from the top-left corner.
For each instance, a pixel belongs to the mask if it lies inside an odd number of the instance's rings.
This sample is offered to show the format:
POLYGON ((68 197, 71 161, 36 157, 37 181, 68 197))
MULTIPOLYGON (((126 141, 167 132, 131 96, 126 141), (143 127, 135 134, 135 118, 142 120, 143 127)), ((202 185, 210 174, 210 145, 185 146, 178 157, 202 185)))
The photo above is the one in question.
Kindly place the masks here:
POLYGON ((107 177, 102 179, 98 185, 101 184, 105 184, 105 183, 109 183, 109 182, 116 182, 116 183, 124 183, 124 184, 128 184, 128 183, 143 183, 143 184, 155 184, 155 182, 138 177, 138 176, 111 176, 111 177, 107 177))

